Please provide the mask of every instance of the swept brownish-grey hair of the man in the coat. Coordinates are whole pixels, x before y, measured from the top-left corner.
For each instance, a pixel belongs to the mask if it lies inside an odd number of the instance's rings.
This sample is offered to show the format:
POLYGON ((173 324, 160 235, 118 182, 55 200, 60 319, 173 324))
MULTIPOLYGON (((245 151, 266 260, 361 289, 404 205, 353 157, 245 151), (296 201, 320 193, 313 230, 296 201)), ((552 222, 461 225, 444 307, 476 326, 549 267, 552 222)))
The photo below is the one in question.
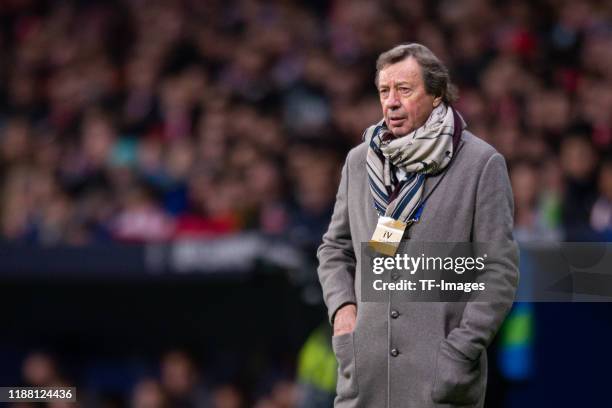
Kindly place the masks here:
POLYGON ((414 58, 421 67, 423 83, 429 95, 441 96, 445 103, 457 100, 457 87, 451 82, 446 66, 429 48, 418 43, 401 44, 378 56, 374 80, 376 87, 378 88, 378 75, 382 69, 410 57, 414 58))

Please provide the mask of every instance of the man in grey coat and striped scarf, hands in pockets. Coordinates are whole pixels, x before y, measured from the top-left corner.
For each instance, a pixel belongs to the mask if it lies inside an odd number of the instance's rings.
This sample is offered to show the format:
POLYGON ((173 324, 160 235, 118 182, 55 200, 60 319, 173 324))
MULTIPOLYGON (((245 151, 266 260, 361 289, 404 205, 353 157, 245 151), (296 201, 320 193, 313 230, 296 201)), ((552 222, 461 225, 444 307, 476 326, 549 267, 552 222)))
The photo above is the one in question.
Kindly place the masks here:
POLYGON ((505 161, 465 129, 448 70, 429 49, 397 46, 376 68, 384 119, 349 152, 318 250, 339 365, 335 406, 482 407, 486 347, 518 282, 505 161), (499 243, 485 271, 495 274, 495 301, 364 301, 361 246, 383 217, 405 227, 404 241, 499 243))

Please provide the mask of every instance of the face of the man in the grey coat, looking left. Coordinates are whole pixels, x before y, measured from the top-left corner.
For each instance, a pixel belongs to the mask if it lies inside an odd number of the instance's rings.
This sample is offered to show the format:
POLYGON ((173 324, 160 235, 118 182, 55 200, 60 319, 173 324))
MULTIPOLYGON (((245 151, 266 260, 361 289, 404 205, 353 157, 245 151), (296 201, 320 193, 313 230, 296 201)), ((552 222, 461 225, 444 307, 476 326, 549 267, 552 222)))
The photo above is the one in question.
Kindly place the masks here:
POLYGON ((439 97, 428 95, 419 63, 412 57, 388 65, 378 75, 378 95, 387 127, 397 137, 422 126, 439 97))

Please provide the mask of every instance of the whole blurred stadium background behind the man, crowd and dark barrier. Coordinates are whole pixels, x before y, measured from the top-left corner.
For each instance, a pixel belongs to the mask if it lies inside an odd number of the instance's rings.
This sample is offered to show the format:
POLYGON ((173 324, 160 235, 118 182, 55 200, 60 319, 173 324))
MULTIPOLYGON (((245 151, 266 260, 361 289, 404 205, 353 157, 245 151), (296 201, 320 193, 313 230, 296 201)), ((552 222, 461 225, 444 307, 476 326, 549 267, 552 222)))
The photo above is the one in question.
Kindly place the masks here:
MULTIPOLYGON (((401 42, 506 157, 522 245, 612 239, 610 2, 3 0, 0 23, 0 385, 326 406, 314 250, 401 42)), ((607 406, 611 309, 516 305, 487 406, 607 406)))

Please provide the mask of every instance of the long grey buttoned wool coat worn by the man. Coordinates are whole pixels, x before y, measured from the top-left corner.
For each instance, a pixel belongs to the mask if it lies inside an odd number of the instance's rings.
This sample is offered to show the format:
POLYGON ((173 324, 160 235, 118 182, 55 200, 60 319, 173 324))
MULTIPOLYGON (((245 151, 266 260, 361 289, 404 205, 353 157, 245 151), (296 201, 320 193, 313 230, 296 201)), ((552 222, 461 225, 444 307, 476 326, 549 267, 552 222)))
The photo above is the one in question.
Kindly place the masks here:
MULTIPOLYGON (((445 172, 425 183, 421 219, 404 239, 413 242, 499 242, 490 259, 497 301, 364 302, 360 248, 378 215, 366 172, 367 144, 352 149, 329 228, 318 250, 319 280, 330 322, 339 307, 357 305, 353 333, 334 336, 338 408, 482 407, 486 347, 509 311, 518 284, 513 199, 504 158, 464 130, 445 172), (393 350, 393 351, 392 351, 393 350)), ((402 246, 400 246, 400 252, 402 246)), ((487 272, 488 272, 487 270, 487 272)))

